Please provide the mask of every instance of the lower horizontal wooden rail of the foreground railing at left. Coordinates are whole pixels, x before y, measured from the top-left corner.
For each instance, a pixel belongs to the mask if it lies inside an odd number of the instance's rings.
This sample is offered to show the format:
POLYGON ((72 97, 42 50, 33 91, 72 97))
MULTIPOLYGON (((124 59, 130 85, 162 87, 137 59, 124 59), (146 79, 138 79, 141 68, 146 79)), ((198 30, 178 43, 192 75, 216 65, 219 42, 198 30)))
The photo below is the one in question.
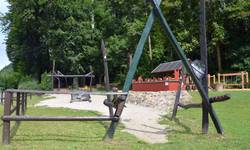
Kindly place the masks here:
POLYGON ((118 117, 3 116, 3 121, 118 121, 118 117))

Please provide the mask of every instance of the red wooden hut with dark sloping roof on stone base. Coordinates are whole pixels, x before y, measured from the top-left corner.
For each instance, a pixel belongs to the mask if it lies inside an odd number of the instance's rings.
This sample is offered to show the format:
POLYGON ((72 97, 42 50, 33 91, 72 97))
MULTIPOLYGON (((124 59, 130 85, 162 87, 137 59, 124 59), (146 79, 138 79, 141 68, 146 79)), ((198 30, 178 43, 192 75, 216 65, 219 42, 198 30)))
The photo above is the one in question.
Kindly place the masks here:
MULTIPOLYGON (((132 91, 176 91, 179 85, 181 70, 181 60, 161 63, 151 73, 164 74, 164 77, 150 79, 139 77, 137 80, 133 80, 132 91)), ((186 86, 183 85, 182 88, 185 90, 186 86)))

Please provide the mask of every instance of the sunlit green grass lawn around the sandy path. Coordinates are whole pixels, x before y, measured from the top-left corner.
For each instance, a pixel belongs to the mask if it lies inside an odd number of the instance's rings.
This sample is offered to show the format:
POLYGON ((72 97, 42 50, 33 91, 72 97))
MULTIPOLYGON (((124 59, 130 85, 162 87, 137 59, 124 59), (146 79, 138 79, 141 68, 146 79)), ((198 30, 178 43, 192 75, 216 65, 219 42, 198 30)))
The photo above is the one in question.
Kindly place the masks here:
MULTIPOLYGON (((213 104, 222 123, 225 134, 217 135, 210 123, 208 135, 201 134, 201 109, 179 110, 178 120, 169 121, 168 116, 161 120, 170 125, 167 129, 168 143, 147 144, 133 135, 122 132, 120 124, 115 138, 103 142, 109 123, 107 122, 12 122, 11 144, 0 149, 250 149, 250 92, 227 92, 232 99, 213 104)), ((199 101, 196 92, 191 93, 199 101)), ((211 95, 222 93, 211 92, 211 95)), ((41 97, 34 97, 28 105, 28 115, 79 116, 96 115, 96 112, 63 108, 34 107, 41 97)), ((0 115, 3 106, 0 105, 0 115)), ((2 128, 2 122, 0 122, 2 128)), ((0 130, 2 135, 2 130, 0 130)), ((2 141, 2 136, 0 137, 2 141)))

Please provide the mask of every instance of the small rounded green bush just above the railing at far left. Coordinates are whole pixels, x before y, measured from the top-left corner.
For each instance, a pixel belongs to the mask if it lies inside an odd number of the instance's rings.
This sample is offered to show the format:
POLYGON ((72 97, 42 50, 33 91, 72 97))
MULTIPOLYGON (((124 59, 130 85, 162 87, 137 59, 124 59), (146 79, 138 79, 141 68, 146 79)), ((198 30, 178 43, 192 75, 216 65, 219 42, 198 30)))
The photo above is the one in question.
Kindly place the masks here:
POLYGON ((40 86, 37 80, 31 78, 30 76, 23 77, 18 85, 18 89, 25 90, 39 90, 40 86))

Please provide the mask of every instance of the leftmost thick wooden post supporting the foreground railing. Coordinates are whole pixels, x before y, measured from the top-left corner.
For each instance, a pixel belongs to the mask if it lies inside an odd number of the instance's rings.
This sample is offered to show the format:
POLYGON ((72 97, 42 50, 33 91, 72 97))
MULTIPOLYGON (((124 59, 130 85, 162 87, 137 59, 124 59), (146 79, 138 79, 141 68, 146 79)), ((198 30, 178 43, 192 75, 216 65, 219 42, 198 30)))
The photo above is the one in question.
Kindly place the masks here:
MULTIPOLYGON (((5 92, 4 116, 10 116, 12 93, 5 92)), ((3 144, 10 144, 10 121, 3 121, 3 144)))

